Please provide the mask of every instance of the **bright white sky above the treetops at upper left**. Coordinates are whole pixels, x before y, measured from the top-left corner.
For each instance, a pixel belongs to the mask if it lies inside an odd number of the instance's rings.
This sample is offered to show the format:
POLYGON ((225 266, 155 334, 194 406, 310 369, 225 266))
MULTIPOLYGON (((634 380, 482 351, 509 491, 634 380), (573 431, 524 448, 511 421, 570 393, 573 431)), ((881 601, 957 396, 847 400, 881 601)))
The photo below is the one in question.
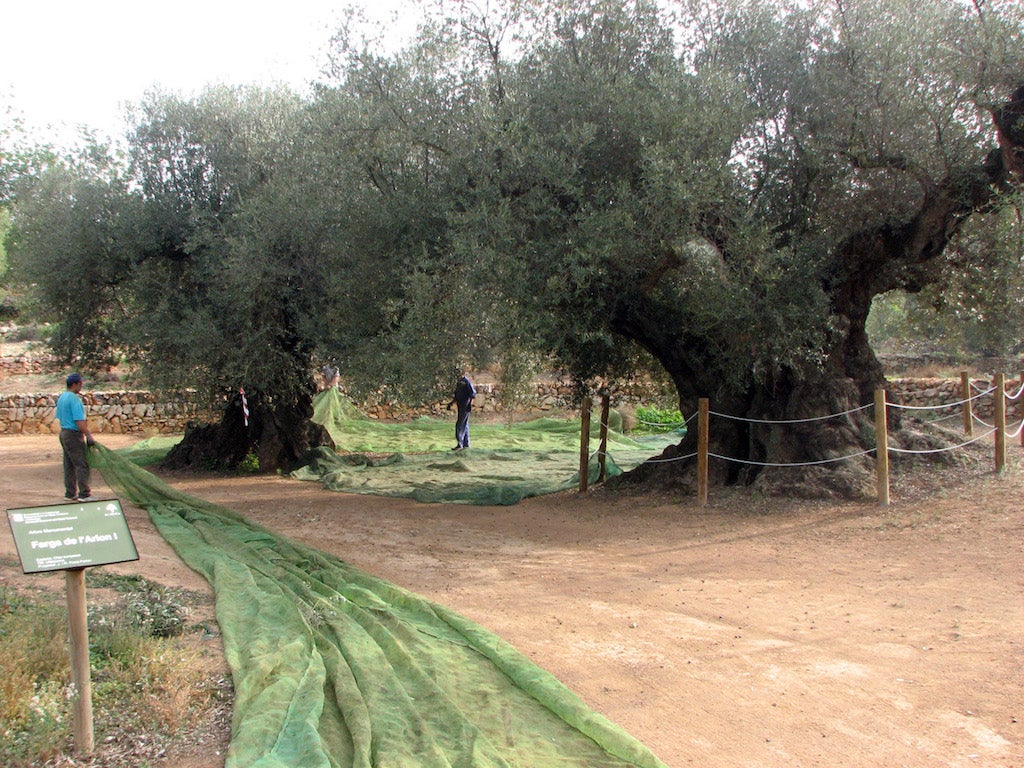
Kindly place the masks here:
POLYGON ((401 0, 11 0, 0 10, 0 120, 8 105, 42 134, 123 132, 123 105, 159 85, 288 83, 321 71, 341 9, 401 0), (44 130, 53 126, 53 130, 44 130))

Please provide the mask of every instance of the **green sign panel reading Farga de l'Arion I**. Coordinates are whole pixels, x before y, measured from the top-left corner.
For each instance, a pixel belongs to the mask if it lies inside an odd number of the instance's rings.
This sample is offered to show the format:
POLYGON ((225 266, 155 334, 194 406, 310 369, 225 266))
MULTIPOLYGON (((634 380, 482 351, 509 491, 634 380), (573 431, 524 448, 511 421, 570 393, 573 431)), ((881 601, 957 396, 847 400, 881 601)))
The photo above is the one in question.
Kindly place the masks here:
POLYGON ((138 559, 117 499, 8 509, 22 570, 69 570, 138 559))

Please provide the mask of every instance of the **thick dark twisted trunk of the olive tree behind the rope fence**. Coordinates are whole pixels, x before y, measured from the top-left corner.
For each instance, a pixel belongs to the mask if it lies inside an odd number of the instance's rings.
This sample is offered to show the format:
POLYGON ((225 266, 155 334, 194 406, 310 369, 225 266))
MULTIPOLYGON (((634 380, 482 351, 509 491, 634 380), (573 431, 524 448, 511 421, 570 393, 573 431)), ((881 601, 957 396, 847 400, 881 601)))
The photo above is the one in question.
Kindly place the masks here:
MULTIPOLYGON (((830 335, 821 366, 788 369, 767 380, 723 387, 703 373, 706 339, 673 333, 650 321, 644 296, 629 297, 616 330, 650 351, 672 376, 685 415, 708 397, 718 414, 711 422, 711 452, 731 461, 711 462, 711 481, 756 484, 791 496, 866 497, 873 494, 874 390, 885 374, 865 331, 874 296, 893 289, 920 291, 941 280, 940 258, 972 213, 984 210, 1013 184, 1024 181, 1024 86, 994 115, 999 148, 985 162, 951 173, 928 190, 916 214, 900 225, 857 232, 839 245, 825 290, 830 335), (827 420, 821 417, 836 416, 827 420), (836 461, 841 457, 851 457, 836 461), (788 466, 779 466, 788 465, 788 466)), ((890 413, 890 425, 898 419, 890 413)), ((895 439, 900 439, 895 432, 895 439)), ((696 429, 665 458, 696 451, 696 429)), ((657 482, 692 487, 695 462, 651 464, 626 479, 656 475, 657 482)))

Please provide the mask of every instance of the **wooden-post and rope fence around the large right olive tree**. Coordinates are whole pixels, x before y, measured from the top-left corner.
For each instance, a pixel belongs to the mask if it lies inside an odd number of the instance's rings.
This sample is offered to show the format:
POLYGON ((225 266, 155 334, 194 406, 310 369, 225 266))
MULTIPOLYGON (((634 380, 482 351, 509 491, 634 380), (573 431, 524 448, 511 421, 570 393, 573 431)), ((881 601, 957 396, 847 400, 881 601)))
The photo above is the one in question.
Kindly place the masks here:
MULTIPOLYGON (((889 455, 890 454, 910 454, 910 455, 929 455, 929 454, 941 454, 951 451, 957 451, 959 449, 966 447, 972 443, 978 442, 979 440, 985 439, 990 435, 994 435, 994 464, 995 471, 1002 472, 1006 469, 1007 463, 1007 437, 1020 437, 1020 443, 1024 446, 1024 418, 1012 431, 1007 429, 1007 402, 1016 402, 1024 396, 1024 372, 1021 372, 1019 379, 1019 386, 1017 391, 1013 394, 1008 394, 1006 387, 1007 381, 1004 374, 996 374, 992 385, 983 388, 978 387, 974 384, 967 372, 961 375, 961 392, 963 393, 962 399, 954 400, 952 402, 945 402, 933 406, 904 406, 896 402, 888 402, 886 399, 886 390, 879 389, 874 393, 874 402, 859 406, 857 408, 850 409, 848 411, 843 411, 836 414, 827 414, 825 416, 816 416, 806 419, 779 419, 779 420, 769 420, 769 419, 750 419, 740 416, 734 416, 730 414, 723 414, 710 409, 710 401, 707 397, 701 397, 698 400, 697 413, 687 417, 681 426, 688 427, 689 424, 696 419, 697 421, 697 450, 695 453, 688 454, 686 456, 677 456, 671 459, 648 459, 646 463, 648 464, 667 464, 671 462, 678 461, 688 461, 690 459, 696 458, 697 460, 697 504, 699 506, 706 506, 708 503, 708 476, 710 460, 716 459, 718 461, 732 462, 734 464, 742 464, 745 466, 758 466, 758 467, 810 467, 819 466, 826 464, 836 464, 839 462, 850 461, 852 459, 858 459, 868 455, 876 455, 876 489, 879 499, 879 503, 883 506, 889 506, 889 455), (974 392, 972 394, 972 392, 974 392), (974 403, 983 397, 992 397, 992 416, 993 423, 987 424, 974 414, 974 403), (809 424, 815 422, 828 421, 831 419, 845 419, 854 414, 867 411, 869 409, 874 410, 874 427, 876 427, 876 446, 867 449, 864 451, 855 452, 845 456, 833 457, 828 459, 821 459, 818 461, 807 461, 807 462, 758 462, 749 459, 739 459, 736 457, 721 456, 719 454, 713 454, 709 450, 710 445, 710 421, 711 417, 716 417, 718 419, 724 419, 729 421, 738 421, 749 424, 782 424, 782 425, 793 425, 793 424, 809 424), (901 449, 889 445, 889 428, 888 428, 888 418, 889 411, 928 411, 928 412, 939 412, 944 410, 961 409, 963 414, 964 423, 964 434, 968 439, 959 442, 955 445, 948 445, 941 449, 901 449), (980 434, 974 434, 974 424, 978 422, 980 425, 985 427, 985 431, 980 434)), ((588 465, 594 456, 597 457, 600 471, 598 474, 598 481, 601 482, 605 479, 605 462, 607 456, 607 434, 608 434, 608 410, 609 410, 609 398, 608 395, 602 395, 601 397, 601 421, 600 421, 600 447, 598 451, 591 455, 590 453, 590 412, 593 407, 593 401, 590 397, 585 397, 583 402, 583 409, 581 412, 581 433, 580 433, 580 493, 586 494, 588 486, 588 465)), ((1022 409, 1024 411, 1024 409, 1022 409)), ((933 419, 934 422, 945 421, 950 418, 954 418, 955 414, 950 414, 949 416, 943 416, 933 419)), ((680 425, 672 425, 680 426, 680 425)))

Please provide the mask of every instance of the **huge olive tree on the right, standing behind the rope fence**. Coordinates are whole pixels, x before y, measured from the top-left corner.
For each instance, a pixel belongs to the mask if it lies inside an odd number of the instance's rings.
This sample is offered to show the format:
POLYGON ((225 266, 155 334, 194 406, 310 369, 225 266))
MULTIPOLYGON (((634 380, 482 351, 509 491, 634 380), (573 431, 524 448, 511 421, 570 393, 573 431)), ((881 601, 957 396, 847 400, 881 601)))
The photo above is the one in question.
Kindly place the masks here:
MULTIPOLYGON (((450 56, 431 85, 445 104, 472 97, 438 114, 443 134, 403 122, 394 94, 366 95, 453 181, 443 268, 481 293, 498 286, 578 377, 620 370, 636 345, 684 413, 709 397, 738 417, 713 433, 739 460, 715 464, 720 481, 797 490, 811 474, 863 490, 869 457, 839 471, 751 462, 872 446, 861 413, 798 422, 871 401, 884 384, 872 298, 942 291, 970 252, 954 247, 965 224, 1024 182, 1021 7, 476 7, 450 4, 428 32, 450 56)), ((412 155, 389 169, 410 164, 422 172, 412 155)))

